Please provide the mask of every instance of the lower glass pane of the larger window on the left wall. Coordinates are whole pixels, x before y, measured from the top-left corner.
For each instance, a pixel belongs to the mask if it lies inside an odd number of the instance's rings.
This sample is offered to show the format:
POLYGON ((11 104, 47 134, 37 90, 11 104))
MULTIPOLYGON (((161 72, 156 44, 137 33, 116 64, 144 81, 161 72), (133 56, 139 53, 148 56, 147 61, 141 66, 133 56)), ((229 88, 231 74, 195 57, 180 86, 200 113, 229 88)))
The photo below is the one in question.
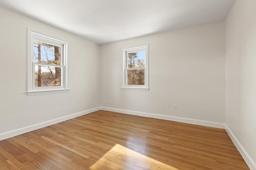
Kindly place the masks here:
POLYGON ((35 65, 35 87, 61 86, 61 67, 35 65))

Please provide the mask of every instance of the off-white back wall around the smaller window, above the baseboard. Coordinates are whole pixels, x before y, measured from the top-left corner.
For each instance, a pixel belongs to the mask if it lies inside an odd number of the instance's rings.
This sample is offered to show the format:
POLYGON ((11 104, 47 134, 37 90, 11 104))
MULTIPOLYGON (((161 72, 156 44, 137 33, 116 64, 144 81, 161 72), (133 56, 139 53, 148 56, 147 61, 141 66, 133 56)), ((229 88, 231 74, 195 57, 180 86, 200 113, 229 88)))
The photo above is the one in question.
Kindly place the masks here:
POLYGON ((102 45, 101 53, 102 107, 225 122, 224 21, 102 45), (150 90, 122 91, 122 48, 145 43, 150 90))

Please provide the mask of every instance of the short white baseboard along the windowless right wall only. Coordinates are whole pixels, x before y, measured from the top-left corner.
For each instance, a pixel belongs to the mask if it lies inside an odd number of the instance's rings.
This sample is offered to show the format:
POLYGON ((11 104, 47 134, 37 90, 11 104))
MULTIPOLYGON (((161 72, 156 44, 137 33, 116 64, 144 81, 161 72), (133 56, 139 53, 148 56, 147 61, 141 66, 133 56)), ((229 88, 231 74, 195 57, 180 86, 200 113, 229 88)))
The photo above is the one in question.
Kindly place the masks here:
POLYGON ((244 149, 242 144, 238 141, 238 139, 236 138, 234 133, 232 133, 232 131, 229 129, 228 125, 225 124, 225 126, 226 126, 226 131, 227 131, 230 139, 236 146, 236 149, 240 152, 240 154, 244 158, 244 161, 249 166, 250 170, 256 170, 256 162, 254 162, 254 160, 252 160, 252 157, 248 154, 248 152, 246 152, 246 150, 244 149))

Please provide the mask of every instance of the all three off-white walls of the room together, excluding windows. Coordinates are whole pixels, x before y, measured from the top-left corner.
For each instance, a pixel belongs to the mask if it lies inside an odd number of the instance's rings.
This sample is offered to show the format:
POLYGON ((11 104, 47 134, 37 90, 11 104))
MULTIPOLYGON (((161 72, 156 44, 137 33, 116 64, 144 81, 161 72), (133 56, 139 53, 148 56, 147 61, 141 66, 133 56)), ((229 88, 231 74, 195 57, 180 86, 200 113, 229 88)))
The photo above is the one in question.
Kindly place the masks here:
POLYGON ((254 0, 236 1, 226 22, 101 47, 0 7, 0 134, 99 106, 226 122, 246 162, 256 168, 255 37, 254 0), (69 93, 26 95, 28 27, 70 41, 69 93), (122 91, 122 48, 145 43, 150 90, 122 91))

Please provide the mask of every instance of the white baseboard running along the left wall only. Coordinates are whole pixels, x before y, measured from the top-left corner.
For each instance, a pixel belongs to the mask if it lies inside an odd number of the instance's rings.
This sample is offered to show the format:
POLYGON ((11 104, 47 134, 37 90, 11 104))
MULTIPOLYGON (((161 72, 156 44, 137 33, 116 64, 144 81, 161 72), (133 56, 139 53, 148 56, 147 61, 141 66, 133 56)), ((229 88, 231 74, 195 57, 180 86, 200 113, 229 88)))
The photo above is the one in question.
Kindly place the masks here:
POLYGON ((2 141, 4 139, 8 139, 10 137, 21 135, 23 133, 31 132, 31 131, 34 131, 36 129, 40 129, 40 128, 43 128, 43 127, 46 127, 46 126, 50 126, 50 125, 53 125, 53 124, 56 124, 56 123, 60 123, 62 121, 73 119, 75 117, 86 115, 86 114, 89 114, 89 113, 92 113, 92 112, 98 111, 98 110, 100 110, 100 107, 96 107, 96 108, 93 108, 93 109, 88 109, 88 110, 81 111, 81 112, 78 112, 78 113, 74 113, 74 114, 71 114, 71 115, 66 115, 66 116, 63 116, 63 117, 59 117, 59 118, 56 118, 56 119, 44 121, 44 122, 37 123, 37 124, 34 124, 34 125, 30 125, 30 126, 27 126, 27 127, 22 127, 22 128, 15 129, 15 130, 12 130, 12 131, 7 131, 7 132, 4 132, 4 133, 0 133, 0 141, 2 141))

